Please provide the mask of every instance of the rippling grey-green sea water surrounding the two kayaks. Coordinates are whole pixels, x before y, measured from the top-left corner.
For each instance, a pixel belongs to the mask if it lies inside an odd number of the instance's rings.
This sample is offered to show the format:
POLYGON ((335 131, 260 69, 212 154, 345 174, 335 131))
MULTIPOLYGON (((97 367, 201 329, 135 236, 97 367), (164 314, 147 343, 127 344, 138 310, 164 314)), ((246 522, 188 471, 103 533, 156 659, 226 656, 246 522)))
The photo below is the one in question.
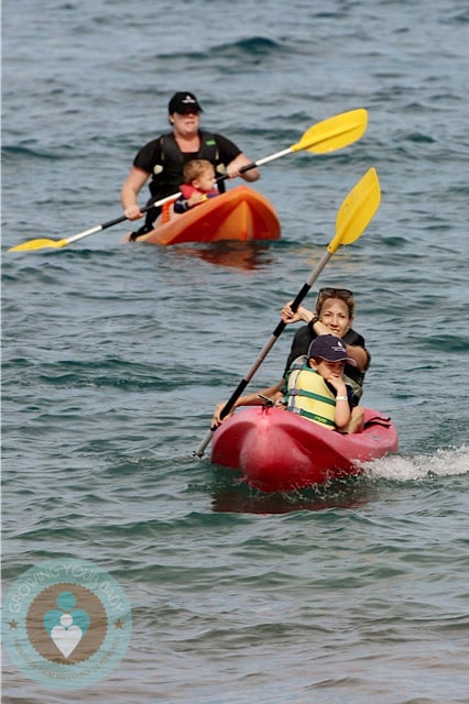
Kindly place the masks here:
MULTIPOLYGON (((80 692, 7 656, 4 702, 467 702, 468 35, 462 0, 6 0, 3 583, 95 562, 133 628, 80 692), (369 128, 263 167, 277 242, 129 246, 123 223, 7 252, 119 217, 134 153, 185 89, 253 160, 337 112, 367 108, 369 128), (371 166, 381 207, 317 286, 356 292, 363 400, 400 451, 265 496, 193 451, 371 166)), ((293 332, 252 385, 277 381, 293 332)))

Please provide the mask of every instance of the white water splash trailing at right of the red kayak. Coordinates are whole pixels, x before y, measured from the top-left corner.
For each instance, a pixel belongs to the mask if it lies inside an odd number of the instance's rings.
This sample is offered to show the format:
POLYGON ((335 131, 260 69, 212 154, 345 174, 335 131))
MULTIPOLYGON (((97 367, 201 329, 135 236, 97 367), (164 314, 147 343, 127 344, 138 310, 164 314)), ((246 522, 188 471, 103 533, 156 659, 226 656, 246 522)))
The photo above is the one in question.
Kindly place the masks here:
POLYGON ((390 455, 363 464, 371 479, 418 480, 428 475, 449 476, 469 472, 469 446, 437 450, 434 454, 390 455))

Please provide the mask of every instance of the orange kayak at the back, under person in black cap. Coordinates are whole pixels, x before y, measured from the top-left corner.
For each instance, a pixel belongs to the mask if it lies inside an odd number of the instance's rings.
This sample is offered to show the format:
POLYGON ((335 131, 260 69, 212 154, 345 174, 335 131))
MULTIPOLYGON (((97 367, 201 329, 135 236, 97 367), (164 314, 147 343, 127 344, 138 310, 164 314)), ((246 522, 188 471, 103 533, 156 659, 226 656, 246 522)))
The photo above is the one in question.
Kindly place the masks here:
POLYGON ((272 204, 255 190, 237 186, 184 215, 173 216, 170 222, 157 226, 137 242, 167 245, 220 240, 277 240, 280 234, 280 221, 272 204))

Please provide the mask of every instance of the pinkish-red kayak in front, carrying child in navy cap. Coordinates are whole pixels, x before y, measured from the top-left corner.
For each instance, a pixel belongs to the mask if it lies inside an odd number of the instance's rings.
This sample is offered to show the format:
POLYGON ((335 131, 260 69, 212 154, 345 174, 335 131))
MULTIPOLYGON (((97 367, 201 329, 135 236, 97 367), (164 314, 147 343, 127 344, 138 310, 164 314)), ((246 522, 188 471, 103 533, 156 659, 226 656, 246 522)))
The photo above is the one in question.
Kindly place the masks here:
POLYGON ((262 492, 290 492, 360 474, 362 462, 399 448, 391 420, 371 408, 364 411, 363 432, 341 435, 281 408, 246 408, 214 432, 211 461, 239 470, 262 492))

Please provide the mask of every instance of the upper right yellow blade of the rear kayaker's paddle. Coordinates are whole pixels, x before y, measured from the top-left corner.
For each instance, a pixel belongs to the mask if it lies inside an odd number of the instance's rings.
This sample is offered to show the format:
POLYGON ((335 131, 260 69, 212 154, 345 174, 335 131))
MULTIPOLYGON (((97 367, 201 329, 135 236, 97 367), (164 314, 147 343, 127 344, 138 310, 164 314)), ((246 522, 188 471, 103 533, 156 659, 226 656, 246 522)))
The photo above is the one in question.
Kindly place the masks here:
POLYGON ((306 150, 315 154, 335 152, 359 140, 367 124, 368 112, 363 108, 342 112, 314 124, 290 148, 292 152, 306 150))

